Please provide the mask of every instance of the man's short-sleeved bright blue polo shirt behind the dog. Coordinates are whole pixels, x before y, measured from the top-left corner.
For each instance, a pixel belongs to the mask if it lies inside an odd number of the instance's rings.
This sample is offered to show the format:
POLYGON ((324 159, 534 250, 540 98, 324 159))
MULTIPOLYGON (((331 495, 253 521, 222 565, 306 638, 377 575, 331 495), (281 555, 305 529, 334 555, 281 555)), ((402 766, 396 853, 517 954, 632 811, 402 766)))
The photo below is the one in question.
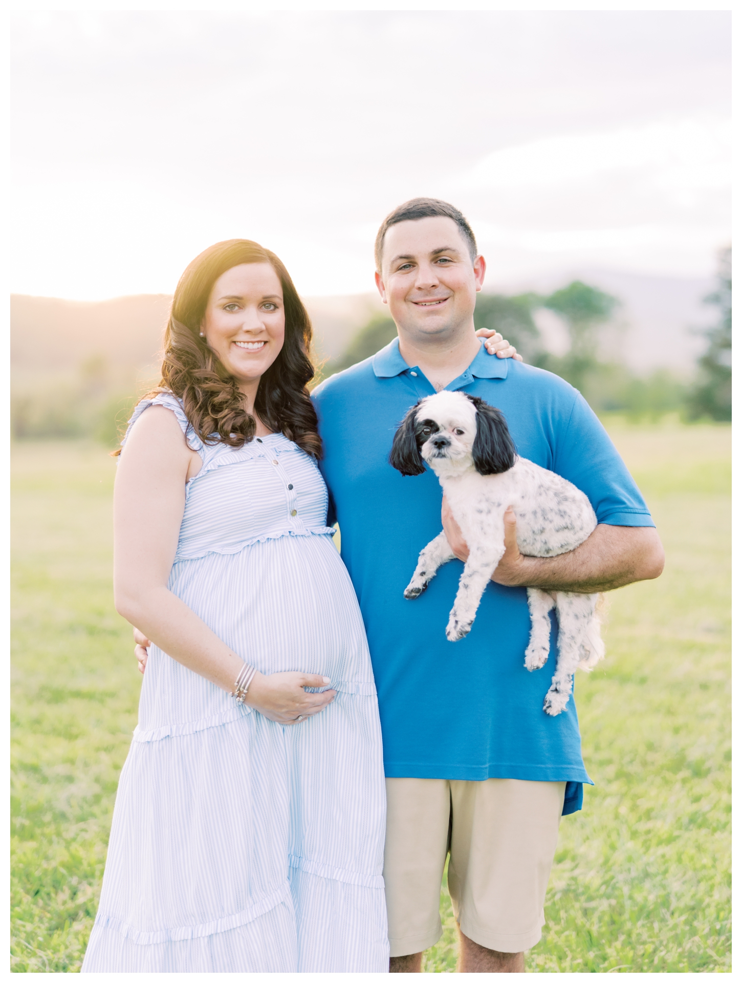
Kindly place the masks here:
MULTIPOLYGON (((518 453, 585 492, 599 523, 653 526, 636 484, 580 393, 558 376, 481 348, 447 389, 481 396, 505 415, 518 453)), ((542 710, 554 672, 524 665, 526 590, 490 582, 471 632, 445 637, 463 564, 444 564, 415 601, 403 591, 418 553, 441 530, 435 475, 403 478, 388 463, 407 410, 434 392, 395 338, 314 390, 330 516, 369 636, 389 778, 566 781, 564 813, 582 806, 585 771, 575 701, 542 710)))

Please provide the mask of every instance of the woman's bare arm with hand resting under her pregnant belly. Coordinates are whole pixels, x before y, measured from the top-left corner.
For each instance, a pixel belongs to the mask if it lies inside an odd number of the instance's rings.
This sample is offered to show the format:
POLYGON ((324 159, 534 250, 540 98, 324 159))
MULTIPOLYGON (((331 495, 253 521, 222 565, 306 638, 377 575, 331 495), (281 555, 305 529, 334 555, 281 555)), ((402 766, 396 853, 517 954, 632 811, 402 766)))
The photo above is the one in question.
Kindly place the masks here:
MULTIPOLYGON (((114 491, 114 597, 116 609, 176 662, 231 692, 243 660, 200 617, 167 589, 178 547, 192 451, 174 414, 146 410, 119 459, 114 491)), ((229 516, 224 516, 228 521, 229 516)), ((323 710, 333 690, 324 676, 257 673, 246 703, 265 717, 292 723, 323 710)))

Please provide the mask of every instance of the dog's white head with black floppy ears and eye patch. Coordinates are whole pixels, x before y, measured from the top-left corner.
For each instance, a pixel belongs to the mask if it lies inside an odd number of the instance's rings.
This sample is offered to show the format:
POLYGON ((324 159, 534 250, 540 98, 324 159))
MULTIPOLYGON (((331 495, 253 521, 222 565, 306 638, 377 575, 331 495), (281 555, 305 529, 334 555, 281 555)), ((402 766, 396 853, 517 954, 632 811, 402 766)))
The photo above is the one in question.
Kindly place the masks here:
POLYGON ((499 410, 478 396, 444 389, 412 407, 394 435, 389 463, 403 475, 422 475, 426 461, 439 478, 508 471, 515 445, 499 410))

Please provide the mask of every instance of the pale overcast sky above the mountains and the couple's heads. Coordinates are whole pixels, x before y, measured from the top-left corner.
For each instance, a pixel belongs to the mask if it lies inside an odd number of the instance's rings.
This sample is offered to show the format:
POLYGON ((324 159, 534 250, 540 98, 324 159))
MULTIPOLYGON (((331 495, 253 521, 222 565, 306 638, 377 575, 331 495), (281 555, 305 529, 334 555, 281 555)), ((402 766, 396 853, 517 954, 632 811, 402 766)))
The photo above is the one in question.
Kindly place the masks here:
POLYGON ((305 295, 373 289, 418 195, 491 288, 707 276, 730 238, 728 13, 28 13, 14 20, 11 288, 171 293, 220 239, 305 295))

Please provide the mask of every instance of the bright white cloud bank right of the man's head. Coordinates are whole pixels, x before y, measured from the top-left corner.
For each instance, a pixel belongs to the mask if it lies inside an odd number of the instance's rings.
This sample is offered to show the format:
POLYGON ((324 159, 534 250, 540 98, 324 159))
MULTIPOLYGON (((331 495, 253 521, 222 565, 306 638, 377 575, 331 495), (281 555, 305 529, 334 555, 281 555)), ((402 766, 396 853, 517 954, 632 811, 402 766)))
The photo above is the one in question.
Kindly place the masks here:
POLYGON ((731 125, 713 116, 504 147, 451 183, 497 275, 603 266, 709 275, 729 241, 731 125))

